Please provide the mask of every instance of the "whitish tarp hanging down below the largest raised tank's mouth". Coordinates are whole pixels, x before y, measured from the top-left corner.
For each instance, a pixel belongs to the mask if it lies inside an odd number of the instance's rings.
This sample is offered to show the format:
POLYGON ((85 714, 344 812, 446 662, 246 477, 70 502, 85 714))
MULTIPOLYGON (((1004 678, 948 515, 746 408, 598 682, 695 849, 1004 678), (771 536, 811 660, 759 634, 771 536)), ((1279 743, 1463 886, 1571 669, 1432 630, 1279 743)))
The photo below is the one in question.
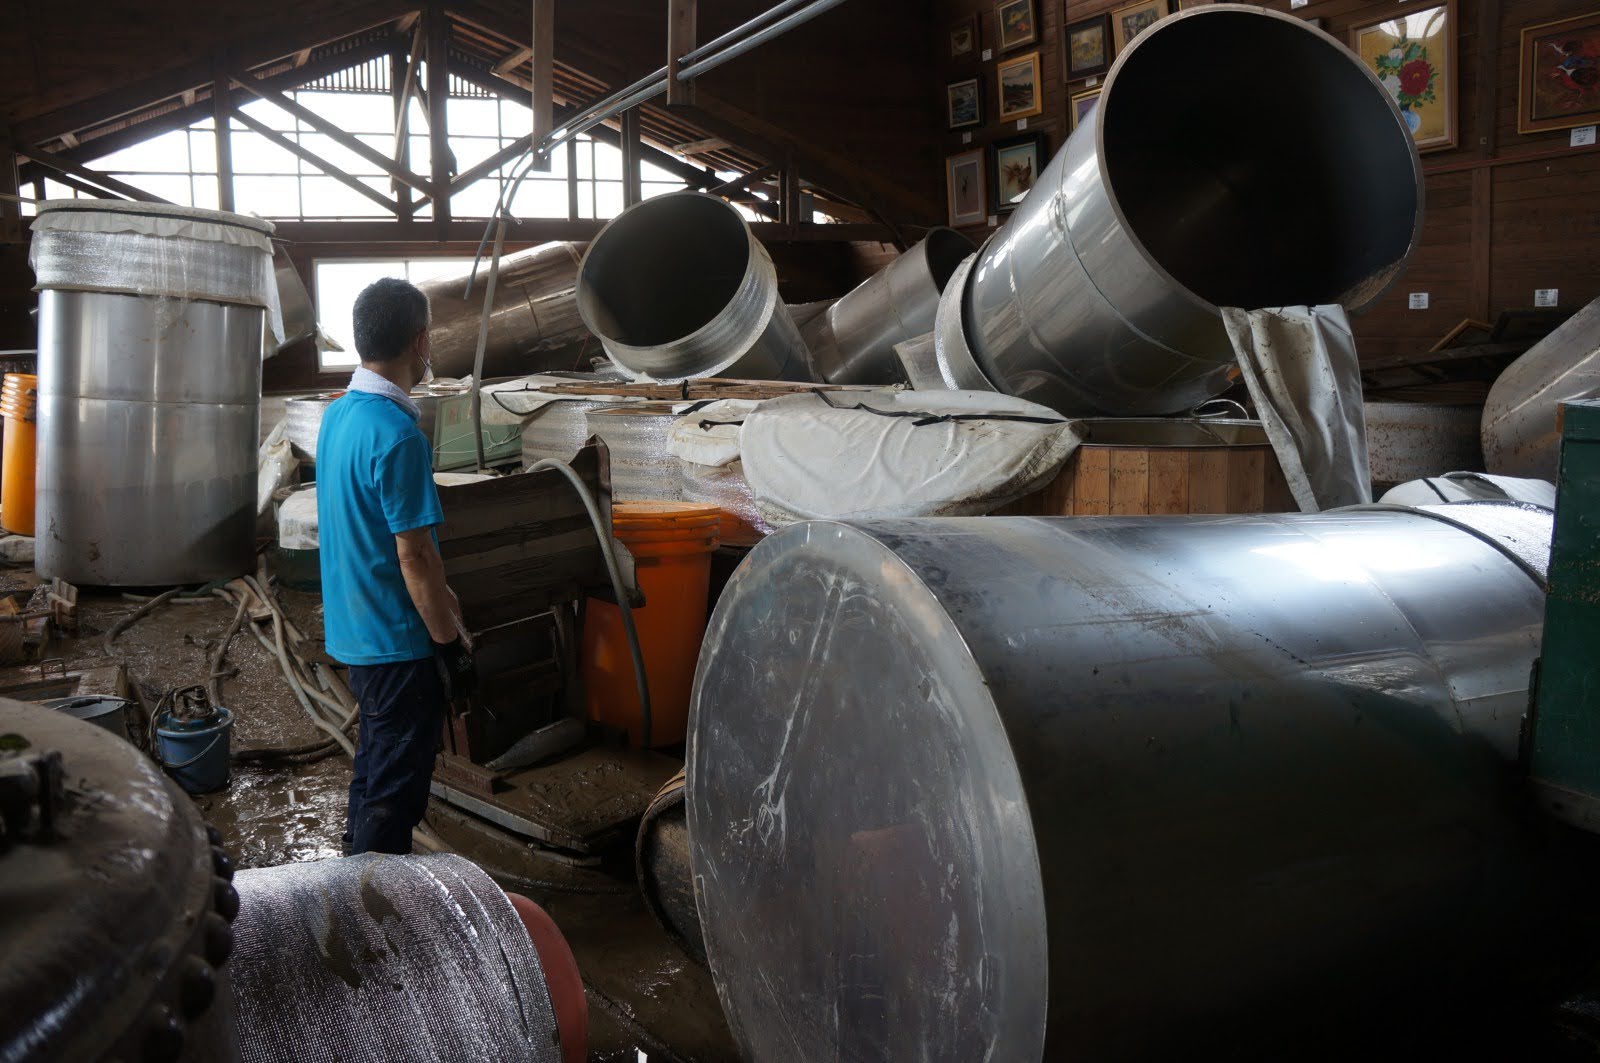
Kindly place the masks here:
POLYGON ((1362 370, 1344 309, 1224 307, 1222 323, 1299 507, 1373 501, 1362 370))

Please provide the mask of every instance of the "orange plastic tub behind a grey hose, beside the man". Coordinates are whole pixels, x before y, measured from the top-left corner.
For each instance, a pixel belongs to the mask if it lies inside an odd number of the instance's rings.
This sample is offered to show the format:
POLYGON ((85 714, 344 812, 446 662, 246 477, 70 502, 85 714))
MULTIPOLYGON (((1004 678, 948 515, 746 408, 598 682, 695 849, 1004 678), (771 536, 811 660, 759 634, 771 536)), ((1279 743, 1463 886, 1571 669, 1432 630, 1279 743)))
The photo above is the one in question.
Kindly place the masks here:
MULTIPOLYGON (((634 556, 645 605, 634 610, 650 682, 650 744, 688 735, 690 687, 706 634, 710 556, 722 511, 691 503, 616 503, 611 532, 634 556)), ((640 744, 638 687, 622 631, 622 612, 589 600, 584 616, 584 696, 589 719, 626 728, 640 744)))

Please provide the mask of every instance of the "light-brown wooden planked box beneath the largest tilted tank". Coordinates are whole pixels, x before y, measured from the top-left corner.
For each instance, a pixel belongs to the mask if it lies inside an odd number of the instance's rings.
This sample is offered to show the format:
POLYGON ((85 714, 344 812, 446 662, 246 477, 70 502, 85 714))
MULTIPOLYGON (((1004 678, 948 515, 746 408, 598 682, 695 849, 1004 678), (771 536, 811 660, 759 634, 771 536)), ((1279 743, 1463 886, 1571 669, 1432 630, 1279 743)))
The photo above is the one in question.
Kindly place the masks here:
POLYGON ((1042 491, 997 511, 1029 517, 1298 512, 1254 421, 1115 418, 1086 437, 1042 491))

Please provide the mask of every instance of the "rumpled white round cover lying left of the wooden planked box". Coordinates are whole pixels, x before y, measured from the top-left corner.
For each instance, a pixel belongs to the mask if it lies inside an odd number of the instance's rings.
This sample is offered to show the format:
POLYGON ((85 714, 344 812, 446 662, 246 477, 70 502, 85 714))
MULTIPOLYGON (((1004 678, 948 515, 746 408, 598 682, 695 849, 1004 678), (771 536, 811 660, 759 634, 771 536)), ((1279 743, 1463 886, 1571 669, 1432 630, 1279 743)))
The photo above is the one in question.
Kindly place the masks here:
POLYGON ((750 411, 739 455, 776 527, 990 512, 1048 483, 1078 442, 1054 410, 995 392, 805 394, 750 411))

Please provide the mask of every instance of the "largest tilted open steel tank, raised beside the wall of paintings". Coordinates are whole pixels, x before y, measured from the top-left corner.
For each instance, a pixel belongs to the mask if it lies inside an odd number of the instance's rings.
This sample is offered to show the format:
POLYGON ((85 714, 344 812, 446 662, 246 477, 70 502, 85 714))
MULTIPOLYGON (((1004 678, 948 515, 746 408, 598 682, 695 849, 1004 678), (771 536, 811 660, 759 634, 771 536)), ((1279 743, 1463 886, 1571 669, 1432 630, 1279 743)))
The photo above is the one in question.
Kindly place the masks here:
POLYGON ((941 331, 957 347, 941 360, 1067 415, 1178 413, 1229 384, 1218 307, 1358 312, 1421 224, 1411 134, 1347 48, 1261 8, 1181 11, 1122 51, 1099 104, 946 288, 962 328, 941 331))

